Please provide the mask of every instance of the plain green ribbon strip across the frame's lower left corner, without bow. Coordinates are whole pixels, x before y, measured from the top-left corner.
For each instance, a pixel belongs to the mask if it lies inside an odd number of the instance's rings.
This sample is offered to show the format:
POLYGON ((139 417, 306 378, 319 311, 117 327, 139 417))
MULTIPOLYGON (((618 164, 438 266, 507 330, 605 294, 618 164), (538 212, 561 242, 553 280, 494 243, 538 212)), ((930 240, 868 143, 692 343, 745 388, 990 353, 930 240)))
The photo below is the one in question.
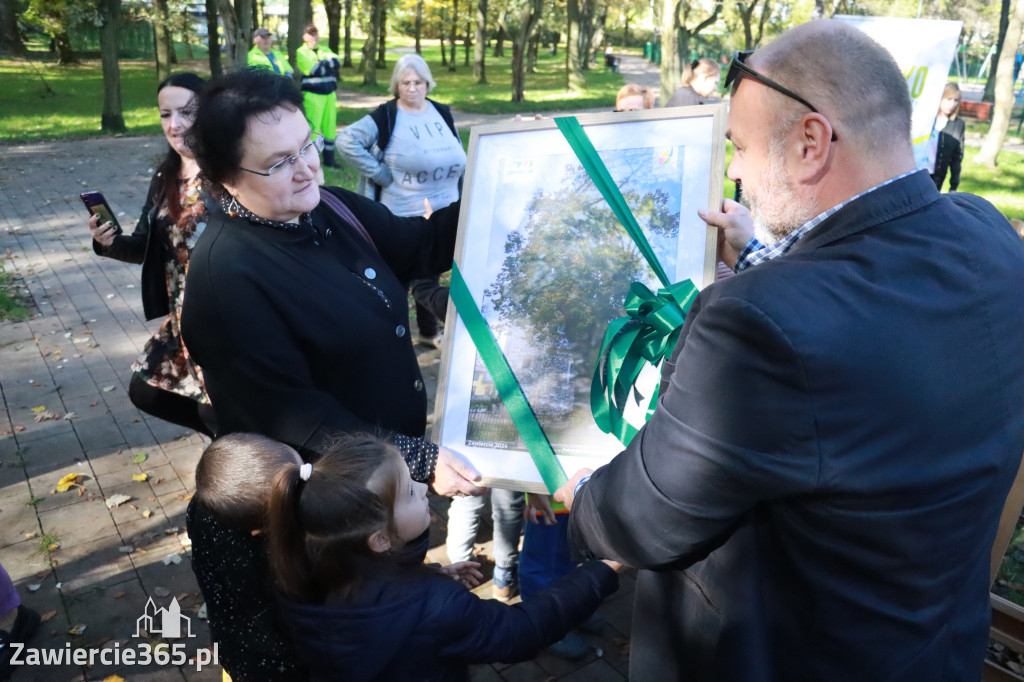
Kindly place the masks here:
POLYGON ((495 335, 490 331, 487 321, 483 318, 479 306, 469 292, 469 287, 466 286, 466 281, 463 279, 459 266, 455 263, 452 264, 452 287, 449 296, 455 303, 463 324, 466 325, 469 337, 473 340, 477 352, 480 353, 483 365, 487 368, 487 374, 495 382, 498 394, 501 396, 502 402, 505 403, 509 416, 512 417, 512 423, 519 431, 519 435, 526 445, 526 451, 532 458, 534 464, 537 465, 537 470, 541 472, 544 484, 553 494, 565 484, 567 480, 565 472, 562 471, 561 465, 555 458, 555 451, 551 449, 548 436, 544 434, 544 429, 537 421, 537 415, 529 407, 526 394, 522 392, 522 387, 516 381, 515 374, 509 367, 508 358, 505 357, 498 341, 495 340, 495 335))

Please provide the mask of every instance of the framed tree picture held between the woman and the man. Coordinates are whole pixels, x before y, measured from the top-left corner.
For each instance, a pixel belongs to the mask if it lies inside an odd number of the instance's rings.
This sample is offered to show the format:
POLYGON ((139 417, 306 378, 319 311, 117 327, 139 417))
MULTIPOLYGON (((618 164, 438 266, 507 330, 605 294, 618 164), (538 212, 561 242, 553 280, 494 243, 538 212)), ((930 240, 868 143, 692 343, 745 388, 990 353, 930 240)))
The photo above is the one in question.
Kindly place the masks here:
MULTIPOLYGON (((669 278, 711 283, 717 233, 696 211, 721 205, 724 104, 577 118, 669 278)), ((657 291, 653 271, 551 119, 473 128, 459 220, 456 263, 562 469, 607 463, 623 445, 594 423, 591 380, 630 284, 657 291)), ((546 493, 454 304, 441 359, 435 442, 485 485, 546 493)))

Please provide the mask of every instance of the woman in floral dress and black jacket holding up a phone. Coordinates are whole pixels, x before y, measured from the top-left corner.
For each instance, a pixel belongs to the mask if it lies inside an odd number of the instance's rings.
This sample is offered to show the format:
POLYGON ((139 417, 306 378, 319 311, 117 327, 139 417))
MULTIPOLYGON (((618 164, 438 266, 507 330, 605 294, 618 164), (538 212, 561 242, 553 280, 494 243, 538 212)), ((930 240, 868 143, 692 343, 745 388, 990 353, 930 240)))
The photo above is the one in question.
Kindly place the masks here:
POLYGON ((180 332, 188 257, 206 227, 199 165, 184 134, 191 126, 189 102, 205 85, 196 74, 181 73, 157 86, 160 123, 170 146, 150 182, 142 216, 134 232, 122 235, 116 224, 94 215, 89 232, 98 255, 142 264, 145 318, 166 317, 132 365, 128 397, 142 412, 212 437, 213 409, 180 332))

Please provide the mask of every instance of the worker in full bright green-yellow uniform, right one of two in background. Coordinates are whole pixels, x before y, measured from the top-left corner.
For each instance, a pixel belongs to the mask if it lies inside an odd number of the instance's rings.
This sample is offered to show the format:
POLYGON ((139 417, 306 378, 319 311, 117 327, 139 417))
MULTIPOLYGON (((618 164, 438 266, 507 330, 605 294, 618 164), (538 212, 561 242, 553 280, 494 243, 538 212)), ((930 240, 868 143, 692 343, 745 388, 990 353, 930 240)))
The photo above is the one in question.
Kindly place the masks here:
POLYGON ((302 32, 305 45, 295 53, 302 74, 302 100, 306 119, 313 132, 324 135, 324 165, 337 167, 334 161, 334 138, 338 128, 338 55, 327 47, 317 46, 319 32, 310 24, 302 32))

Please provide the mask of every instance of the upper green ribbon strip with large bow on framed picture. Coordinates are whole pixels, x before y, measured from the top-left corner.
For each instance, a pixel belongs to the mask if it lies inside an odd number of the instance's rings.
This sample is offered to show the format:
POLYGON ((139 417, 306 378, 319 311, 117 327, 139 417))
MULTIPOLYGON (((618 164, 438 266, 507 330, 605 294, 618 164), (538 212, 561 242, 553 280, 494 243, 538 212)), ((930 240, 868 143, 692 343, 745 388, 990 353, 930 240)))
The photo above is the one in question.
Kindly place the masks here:
MULTIPOLYGON (((575 117, 556 118, 555 124, 664 287, 654 294, 639 282, 630 285, 623 304, 627 316, 608 324, 597 367, 594 368, 590 386, 590 409, 594 422, 602 431, 628 445, 638 429, 623 416, 626 400, 644 366, 656 366, 672 352, 697 289, 689 280, 670 284, 665 268, 633 217, 618 185, 611 179, 611 174, 575 117)), ((645 420, 650 419, 656 404, 655 388, 647 404, 645 420)))

